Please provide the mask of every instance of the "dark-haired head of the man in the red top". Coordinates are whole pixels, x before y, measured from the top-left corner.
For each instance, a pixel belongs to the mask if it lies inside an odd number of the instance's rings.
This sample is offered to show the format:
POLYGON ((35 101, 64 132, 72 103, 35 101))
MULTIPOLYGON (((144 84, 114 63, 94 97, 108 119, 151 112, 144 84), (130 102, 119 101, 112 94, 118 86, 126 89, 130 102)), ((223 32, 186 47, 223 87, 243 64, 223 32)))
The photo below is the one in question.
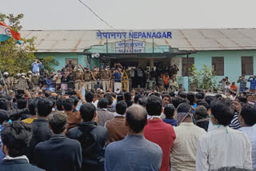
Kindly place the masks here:
POLYGON ((162 100, 157 96, 150 96, 146 101, 146 111, 150 116, 160 116, 162 112, 162 100))

